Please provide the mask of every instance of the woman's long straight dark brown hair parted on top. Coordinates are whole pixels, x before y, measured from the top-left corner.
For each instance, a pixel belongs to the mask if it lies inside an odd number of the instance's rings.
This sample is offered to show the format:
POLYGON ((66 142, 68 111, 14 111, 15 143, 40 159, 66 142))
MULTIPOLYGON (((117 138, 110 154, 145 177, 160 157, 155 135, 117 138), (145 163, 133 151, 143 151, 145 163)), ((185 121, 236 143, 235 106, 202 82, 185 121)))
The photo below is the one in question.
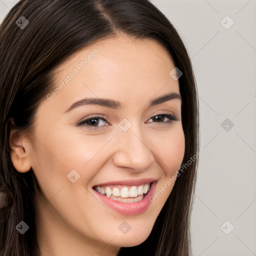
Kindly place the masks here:
MULTIPOLYGON (((22 21, 20 22, 22 23, 22 21)), ((8 204, 0 209, 0 255, 34 256, 36 240, 37 180, 32 169, 15 170, 9 154, 9 127, 13 117, 20 129, 29 129, 38 104, 51 91, 52 70, 68 56, 117 31, 140 39, 154 39, 170 54, 182 71, 179 90, 185 135, 182 164, 198 152, 198 99, 194 74, 185 46, 170 21, 147 0, 20 0, 0 25, 0 190, 8 204), (28 24, 18 26, 19 17, 28 24), (20 234, 16 225, 29 229, 20 234)), ((190 160, 191 161, 191 160, 190 160)), ((190 213, 197 160, 180 171, 148 238, 123 255, 191 255, 190 213)), ((37 252, 36 252, 37 251, 37 252)))

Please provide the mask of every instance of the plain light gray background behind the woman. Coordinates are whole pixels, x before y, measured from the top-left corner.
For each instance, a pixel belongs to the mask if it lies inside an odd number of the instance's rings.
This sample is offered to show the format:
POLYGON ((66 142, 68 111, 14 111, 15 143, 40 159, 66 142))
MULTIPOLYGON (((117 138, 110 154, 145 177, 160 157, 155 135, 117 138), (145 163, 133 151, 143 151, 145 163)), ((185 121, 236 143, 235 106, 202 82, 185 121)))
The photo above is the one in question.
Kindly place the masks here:
MULTIPOLYGON (((16 2, 0 0, 0 21, 16 2)), ((179 32, 198 86, 193 256, 256 255, 256 0, 151 2, 179 32)))

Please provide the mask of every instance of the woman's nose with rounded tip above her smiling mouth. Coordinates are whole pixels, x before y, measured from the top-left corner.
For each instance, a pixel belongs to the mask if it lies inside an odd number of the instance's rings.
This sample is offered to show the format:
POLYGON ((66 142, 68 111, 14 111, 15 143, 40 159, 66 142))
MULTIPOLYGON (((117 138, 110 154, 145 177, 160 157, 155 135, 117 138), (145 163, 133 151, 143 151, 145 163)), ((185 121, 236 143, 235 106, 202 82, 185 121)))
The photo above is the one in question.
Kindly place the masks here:
POLYGON ((149 148, 149 138, 142 136, 135 129, 123 132, 116 136, 117 148, 113 155, 113 162, 119 167, 128 167, 133 171, 143 171, 154 161, 154 155, 149 148))

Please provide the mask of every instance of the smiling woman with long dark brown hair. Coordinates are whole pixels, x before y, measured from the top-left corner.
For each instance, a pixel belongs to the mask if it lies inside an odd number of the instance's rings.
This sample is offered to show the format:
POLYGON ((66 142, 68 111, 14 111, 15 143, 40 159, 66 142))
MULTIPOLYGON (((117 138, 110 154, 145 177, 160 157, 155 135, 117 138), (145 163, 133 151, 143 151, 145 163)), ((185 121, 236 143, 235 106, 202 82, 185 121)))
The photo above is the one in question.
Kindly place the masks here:
POLYGON ((20 0, 0 45, 1 255, 190 255, 198 103, 167 18, 20 0))

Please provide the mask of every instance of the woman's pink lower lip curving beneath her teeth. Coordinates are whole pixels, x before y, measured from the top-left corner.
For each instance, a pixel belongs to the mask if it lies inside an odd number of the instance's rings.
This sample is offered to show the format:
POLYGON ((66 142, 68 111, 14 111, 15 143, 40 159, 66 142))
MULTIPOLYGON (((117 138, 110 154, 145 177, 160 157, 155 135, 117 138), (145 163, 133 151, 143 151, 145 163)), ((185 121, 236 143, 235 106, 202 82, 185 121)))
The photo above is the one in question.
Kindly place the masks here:
POLYGON ((150 205, 149 197, 154 193, 155 189, 155 183, 154 181, 151 184, 150 189, 148 190, 147 194, 143 197, 143 199, 139 202, 120 202, 116 201, 114 199, 111 199, 107 197, 106 195, 103 195, 96 190, 92 189, 95 194, 99 197, 99 199, 108 207, 116 210, 118 213, 122 215, 137 215, 139 213, 144 212, 150 205))

